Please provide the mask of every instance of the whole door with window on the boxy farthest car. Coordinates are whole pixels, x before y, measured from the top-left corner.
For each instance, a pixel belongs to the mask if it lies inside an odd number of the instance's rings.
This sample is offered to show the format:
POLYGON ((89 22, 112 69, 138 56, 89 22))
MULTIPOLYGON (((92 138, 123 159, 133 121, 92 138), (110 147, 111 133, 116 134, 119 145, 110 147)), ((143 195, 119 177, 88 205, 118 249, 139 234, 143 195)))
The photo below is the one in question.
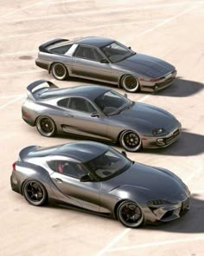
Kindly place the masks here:
POLYGON ((110 82, 112 64, 98 49, 79 45, 73 54, 73 75, 110 82))

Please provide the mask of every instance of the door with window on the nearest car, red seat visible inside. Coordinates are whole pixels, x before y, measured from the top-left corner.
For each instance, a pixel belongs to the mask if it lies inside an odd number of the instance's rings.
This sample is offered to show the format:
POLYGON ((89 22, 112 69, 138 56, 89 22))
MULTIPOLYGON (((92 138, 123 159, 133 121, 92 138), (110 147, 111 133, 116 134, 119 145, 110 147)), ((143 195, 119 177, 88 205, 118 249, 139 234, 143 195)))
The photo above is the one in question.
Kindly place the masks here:
POLYGON ((50 161, 48 165, 54 166, 54 173, 50 174, 54 185, 67 201, 76 201, 80 207, 99 212, 100 182, 81 182, 80 177, 87 174, 80 163, 72 161, 50 161))

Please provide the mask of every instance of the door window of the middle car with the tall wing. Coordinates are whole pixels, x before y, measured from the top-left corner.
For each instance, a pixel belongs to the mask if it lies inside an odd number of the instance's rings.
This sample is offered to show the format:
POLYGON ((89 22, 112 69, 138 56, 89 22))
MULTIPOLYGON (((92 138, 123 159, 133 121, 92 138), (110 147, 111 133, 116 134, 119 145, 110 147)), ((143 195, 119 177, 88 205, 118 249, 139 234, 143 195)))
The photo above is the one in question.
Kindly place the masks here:
POLYGON ((96 109, 93 108, 92 104, 88 102, 86 99, 77 97, 69 99, 67 108, 90 114, 96 111, 96 109))

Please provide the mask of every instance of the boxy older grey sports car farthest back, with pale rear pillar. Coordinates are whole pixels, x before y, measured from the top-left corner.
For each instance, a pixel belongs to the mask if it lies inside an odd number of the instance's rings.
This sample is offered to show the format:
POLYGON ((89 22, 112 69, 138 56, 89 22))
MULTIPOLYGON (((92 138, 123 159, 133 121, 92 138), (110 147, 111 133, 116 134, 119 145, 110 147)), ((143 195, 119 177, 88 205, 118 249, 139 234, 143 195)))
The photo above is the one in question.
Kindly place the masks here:
POLYGON ((117 84, 128 92, 155 91, 175 79, 175 67, 103 37, 54 39, 39 47, 36 65, 58 80, 68 76, 117 84))

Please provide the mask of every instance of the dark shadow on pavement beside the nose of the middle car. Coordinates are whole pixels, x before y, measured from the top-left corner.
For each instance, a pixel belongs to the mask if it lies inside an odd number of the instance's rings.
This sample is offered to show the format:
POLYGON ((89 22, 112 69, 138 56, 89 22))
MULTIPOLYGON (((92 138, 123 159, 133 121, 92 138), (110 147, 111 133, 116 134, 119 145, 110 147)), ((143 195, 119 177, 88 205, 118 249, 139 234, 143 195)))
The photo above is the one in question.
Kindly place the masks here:
POLYGON ((169 148, 143 149, 141 153, 188 156, 202 154, 204 152, 204 135, 197 135, 188 131, 182 131, 178 141, 169 148))

